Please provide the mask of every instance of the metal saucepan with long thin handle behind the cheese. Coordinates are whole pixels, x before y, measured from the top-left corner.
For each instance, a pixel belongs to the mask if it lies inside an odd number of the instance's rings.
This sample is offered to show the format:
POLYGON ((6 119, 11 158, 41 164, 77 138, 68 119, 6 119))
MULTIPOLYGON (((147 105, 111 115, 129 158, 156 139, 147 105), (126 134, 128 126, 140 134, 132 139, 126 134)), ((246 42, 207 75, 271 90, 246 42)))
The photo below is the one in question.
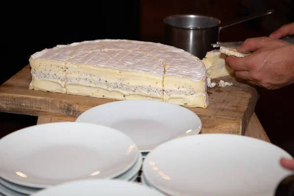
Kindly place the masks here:
POLYGON ((252 14, 235 21, 221 24, 217 18, 200 15, 172 15, 166 17, 165 44, 184 49, 202 59, 206 52, 213 49, 212 43, 219 41, 222 28, 236 25, 260 16, 273 13, 274 10, 252 14))

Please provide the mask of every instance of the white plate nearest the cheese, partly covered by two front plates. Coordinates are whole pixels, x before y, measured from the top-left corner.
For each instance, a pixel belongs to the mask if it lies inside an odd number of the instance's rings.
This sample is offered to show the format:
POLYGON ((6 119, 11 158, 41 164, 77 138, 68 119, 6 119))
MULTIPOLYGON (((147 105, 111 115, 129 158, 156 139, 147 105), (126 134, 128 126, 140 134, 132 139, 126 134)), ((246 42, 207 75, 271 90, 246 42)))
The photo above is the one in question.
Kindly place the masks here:
POLYGON ((121 130, 143 152, 181 135, 198 134, 201 121, 189 109, 153 100, 123 100, 102 104, 81 114, 76 122, 97 123, 121 130))

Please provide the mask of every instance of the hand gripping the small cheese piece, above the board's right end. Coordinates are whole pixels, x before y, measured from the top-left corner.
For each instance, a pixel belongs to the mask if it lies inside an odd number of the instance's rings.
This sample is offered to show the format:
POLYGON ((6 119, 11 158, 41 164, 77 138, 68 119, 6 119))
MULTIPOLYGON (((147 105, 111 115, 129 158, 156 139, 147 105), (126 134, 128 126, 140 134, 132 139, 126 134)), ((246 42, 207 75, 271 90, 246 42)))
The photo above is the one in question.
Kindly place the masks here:
POLYGON ((252 52, 245 57, 226 56, 225 63, 237 77, 266 89, 294 83, 293 44, 268 37, 249 38, 237 51, 252 52))

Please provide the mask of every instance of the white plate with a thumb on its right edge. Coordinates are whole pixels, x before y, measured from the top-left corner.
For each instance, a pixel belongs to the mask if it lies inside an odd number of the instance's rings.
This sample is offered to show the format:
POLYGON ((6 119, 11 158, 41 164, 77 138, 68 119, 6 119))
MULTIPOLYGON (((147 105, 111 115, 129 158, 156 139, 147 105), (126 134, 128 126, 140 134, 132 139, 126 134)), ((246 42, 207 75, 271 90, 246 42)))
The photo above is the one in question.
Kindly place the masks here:
POLYGON ((143 163, 150 186, 172 196, 273 196, 291 172, 279 160, 291 155, 262 140, 199 134, 169 141, 143 163))

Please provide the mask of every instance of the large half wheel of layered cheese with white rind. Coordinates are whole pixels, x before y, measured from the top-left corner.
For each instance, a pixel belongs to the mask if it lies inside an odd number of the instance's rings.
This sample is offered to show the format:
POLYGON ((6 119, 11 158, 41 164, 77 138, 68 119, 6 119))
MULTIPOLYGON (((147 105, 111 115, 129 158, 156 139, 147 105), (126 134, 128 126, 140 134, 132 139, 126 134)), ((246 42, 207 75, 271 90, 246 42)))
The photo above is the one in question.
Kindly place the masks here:
POLYGON ((31 55, 29 89, 208 106, 204 64, 171 46, 133 40, 58 45, 31 55))

